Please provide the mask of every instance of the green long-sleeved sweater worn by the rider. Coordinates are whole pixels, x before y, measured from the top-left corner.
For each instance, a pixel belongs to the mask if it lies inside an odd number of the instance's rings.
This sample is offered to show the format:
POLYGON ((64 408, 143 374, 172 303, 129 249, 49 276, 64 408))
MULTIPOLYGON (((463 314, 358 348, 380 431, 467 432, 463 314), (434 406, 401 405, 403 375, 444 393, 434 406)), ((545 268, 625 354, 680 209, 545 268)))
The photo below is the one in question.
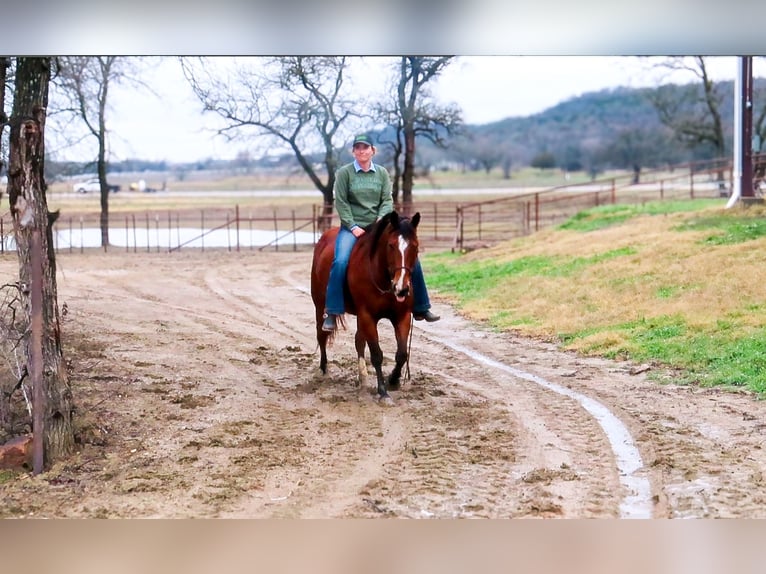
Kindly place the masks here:
POLYGON ((372 164, 375 171, 356 171, 354 162, 335 174, 335 210, 343 227, 367 227, 394 210, 391 178, 382 165, 372 164))

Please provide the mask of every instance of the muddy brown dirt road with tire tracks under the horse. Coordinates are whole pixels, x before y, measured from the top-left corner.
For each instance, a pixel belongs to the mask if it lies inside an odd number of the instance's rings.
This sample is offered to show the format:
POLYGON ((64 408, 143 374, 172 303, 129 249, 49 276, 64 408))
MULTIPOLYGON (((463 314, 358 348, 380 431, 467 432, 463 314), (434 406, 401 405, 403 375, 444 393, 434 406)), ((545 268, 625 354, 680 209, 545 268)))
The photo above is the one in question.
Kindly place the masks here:
POLYGON ((494 333, 433 294, 443 319, 416 323, 383 406, 351 330, 319 375, 310 260, 60 255, 80 451, 0 485, 0 516, 766 516, 766 404, 494 333))

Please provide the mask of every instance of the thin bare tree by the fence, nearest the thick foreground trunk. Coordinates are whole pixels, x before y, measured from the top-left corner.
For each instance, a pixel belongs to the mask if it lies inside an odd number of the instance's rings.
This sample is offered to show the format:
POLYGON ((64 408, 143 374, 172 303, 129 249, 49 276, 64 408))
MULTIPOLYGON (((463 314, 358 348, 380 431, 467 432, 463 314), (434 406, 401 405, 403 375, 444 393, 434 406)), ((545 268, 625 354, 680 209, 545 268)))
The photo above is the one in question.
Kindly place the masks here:
POLYGON ((109 90, 117 83, 139 83, 128 58, 123 56, 71 56, 57 60, 54 78, 66 103, 59 112, 81 120, 87 137, 97 144, 96 173, 101 184, 101 246, 109 245, 109 184, 107 162, 109 141, 107 110, 109 90))

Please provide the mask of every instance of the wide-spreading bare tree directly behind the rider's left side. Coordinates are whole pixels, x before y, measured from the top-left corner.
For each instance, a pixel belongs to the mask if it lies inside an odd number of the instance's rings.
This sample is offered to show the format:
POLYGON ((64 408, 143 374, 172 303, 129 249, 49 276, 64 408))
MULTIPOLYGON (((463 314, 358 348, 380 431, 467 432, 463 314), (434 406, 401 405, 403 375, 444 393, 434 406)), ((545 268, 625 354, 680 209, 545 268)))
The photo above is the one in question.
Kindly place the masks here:
POLYGON ((320 225, 329 225, 342 149, 338 142, 348 141, 350 120, 360 115, 348 92, 348 58, 237 59, 230 75, 210 59, 181 63, 203 111, 223 118, 226 125, 218 133, 233 139, 252 128, 295 155, 324 198, 320 225))

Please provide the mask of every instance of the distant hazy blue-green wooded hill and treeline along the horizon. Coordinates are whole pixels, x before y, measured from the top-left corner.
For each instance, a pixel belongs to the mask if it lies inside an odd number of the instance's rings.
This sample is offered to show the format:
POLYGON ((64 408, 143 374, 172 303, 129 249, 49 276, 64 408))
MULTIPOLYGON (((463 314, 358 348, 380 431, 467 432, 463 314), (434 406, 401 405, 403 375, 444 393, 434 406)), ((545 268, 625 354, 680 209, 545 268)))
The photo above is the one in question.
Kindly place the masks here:
MULTIPOLYGON (((520 86, 519 89, 523 89, 520 86)), ((502 169, 507 177, 511 170, 532 166, 541 169, 585 170, 596 175, 607 169, 661 167, 720 156, 720 150, 705 141, 694 142, 679 137, 672 127, 660 120, 656 96, 662 90, 664 101, 673 102, 674 113, 684 114, 700 125, 708 122, 709 110, 700 107, 702 86, 694 84, 664 85, 658 88, 614 88, 590 92, 566 100, 547 110, 526 117, 509 117, 497 122, 463 126, 462 133, 445 136, 446 149, 430 141, 418 140, 417 164, 421 171, 502 169), (693 97, 690 97, 693 96, 693 97), (654 101, 653 101, 654 100, 654 101)), ((732 148, 734 125, 734 82, 716 83, 728 153, 732 148)), ((766 108, 766 80, 754 81, 754 116, 766 108)), ((755 134, 763 131, 763 121, 755 134)), ((386 134, 379 134, 385 136, 386 134)), ((382 137, 381 139, 385 139, 382 137)), ((342 160, 350 160, 343 151, 342 160)), ((322 157, 317 155, 317 163, 322 157)), ((385 145, 379 146, 378 160, 386 164, 390 155, 385 145)), ((206 159, 188 163, 128 159, 109 163, 109 173, 175 172, 218 170, 222 172, 255 172, 258 170, 295 170, 295 156, 253 157, 247 150, 235 159, 206 159)), ((94 163, 46 162, 46 175, 55 180, 92 173, 94 163)))

